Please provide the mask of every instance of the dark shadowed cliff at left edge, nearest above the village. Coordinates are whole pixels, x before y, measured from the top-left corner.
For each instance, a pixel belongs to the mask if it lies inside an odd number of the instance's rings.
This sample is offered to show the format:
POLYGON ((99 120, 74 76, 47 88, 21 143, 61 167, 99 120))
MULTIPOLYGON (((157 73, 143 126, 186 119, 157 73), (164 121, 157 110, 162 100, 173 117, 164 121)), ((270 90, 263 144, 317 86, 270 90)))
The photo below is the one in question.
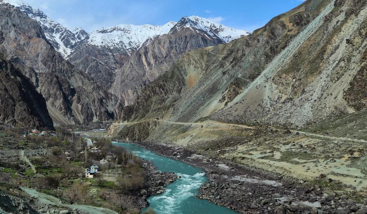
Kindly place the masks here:
MULTIPOLYGON (((31 72, 34 72, 31 68, 31 72)), ((46 101, 32 82, 0 56, 0 120, 14 126, 53 128, 46 101)))

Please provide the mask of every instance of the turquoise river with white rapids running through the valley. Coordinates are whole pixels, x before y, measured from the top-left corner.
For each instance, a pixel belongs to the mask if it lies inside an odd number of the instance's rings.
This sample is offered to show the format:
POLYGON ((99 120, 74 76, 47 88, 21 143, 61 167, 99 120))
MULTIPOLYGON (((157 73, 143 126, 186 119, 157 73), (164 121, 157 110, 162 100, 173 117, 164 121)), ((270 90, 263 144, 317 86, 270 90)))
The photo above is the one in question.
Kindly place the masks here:
POLYGON ((205 173, 199 167, 193 167, 169 157, 163 157, 146 150, 135 144, 115 143, 115 145, 134 152, 137 156, 151 160, 157 167, 157 170, 163 172, 174 172, 180 175, 176 181, 165 186, 166 192, 159 195, 150 196, 148 198, 149 207, 152 207, 157 214, 186 214, 186 213, 202 213, 202 214, 235 214, 237 212, 210 203, 208 200, 201 200, 196 197, 197 190, 200 186, 207 182, 205 173), (164 165, 163 165, 164 164, 164 165))

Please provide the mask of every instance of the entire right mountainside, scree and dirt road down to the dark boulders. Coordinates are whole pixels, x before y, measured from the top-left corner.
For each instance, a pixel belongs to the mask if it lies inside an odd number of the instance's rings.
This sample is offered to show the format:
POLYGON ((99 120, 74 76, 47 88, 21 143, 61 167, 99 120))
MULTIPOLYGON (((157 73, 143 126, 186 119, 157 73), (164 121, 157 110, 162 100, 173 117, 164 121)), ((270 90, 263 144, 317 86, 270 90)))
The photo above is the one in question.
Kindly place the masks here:
POLYGON ((183 54, 109 134, 366 190, 366 3, 305 1, 251 35, 183 54))

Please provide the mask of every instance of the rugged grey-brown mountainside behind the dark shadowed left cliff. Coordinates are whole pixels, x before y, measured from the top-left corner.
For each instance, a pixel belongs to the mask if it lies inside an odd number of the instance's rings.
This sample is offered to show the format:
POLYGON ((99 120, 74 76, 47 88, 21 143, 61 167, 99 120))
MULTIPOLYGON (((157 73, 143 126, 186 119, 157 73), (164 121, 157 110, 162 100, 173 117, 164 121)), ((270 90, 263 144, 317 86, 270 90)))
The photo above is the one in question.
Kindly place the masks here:
POLYGON ((36 21, 6 3, 1 4, 0 16, 0 52, 15 66, 35 71, 23 75, 45 98, 55 123, 88 123, 114 117, 117 98, 65 61, 36 21))

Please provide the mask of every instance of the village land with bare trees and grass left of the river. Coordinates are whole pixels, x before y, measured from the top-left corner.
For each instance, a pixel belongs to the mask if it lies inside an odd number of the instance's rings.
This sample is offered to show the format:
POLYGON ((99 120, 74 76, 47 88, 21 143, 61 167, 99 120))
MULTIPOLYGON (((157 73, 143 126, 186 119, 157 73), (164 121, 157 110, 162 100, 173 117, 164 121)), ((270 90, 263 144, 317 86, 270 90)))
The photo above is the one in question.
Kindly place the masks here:
MULTIPOLYGON (((61 130, 51 137, 23 135, 23 130, 15 127, 0 130, 1 208, 6 212, 68 213, 70 210, 83 213, 83 210, 72 210, 67 206, 46 208, 51 204, 29 198, 22 191, 22 188, 34 188, 57 197, 64 204, 139 213, 142 207, 148 205, 146 197, 157 194, 160 189, 164 191, 163 186, 175 179, 172 173, 152 176, 155 170, 151 162, 112 145, 109 139, 95 138, 101 152, 89 152, 86 156, 80 154, 80 148, 86 147, 82 137, 72 137, 73 134, 61 130), (78 149, 76 142, 80 140, 83 142, 78 149), (106 153, 113 154, 115 161, 100 165, 99 160, 106 153), (101 166, 101 172, 87 179, 84 168, 93 164, 101 166)), ((146 213, 154 211, 148 210, 146 213)))

